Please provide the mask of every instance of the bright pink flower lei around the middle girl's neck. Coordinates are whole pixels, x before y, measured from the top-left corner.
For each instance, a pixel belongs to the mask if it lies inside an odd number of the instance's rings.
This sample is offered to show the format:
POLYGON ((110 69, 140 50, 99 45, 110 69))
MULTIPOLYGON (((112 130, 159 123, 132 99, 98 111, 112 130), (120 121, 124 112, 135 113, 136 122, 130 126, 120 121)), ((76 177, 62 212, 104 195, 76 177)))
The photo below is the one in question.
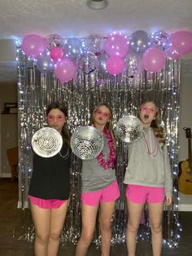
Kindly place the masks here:
POLYGON ((98 155, 98 163, 100 166, 103 166, 104 170, 107 170, 109 168, 114 169, 114 164, 115 164, 115 159, 116 159, 116 151, 115 151, 115 145, 114 145, 114 141, 112 139, 112 136, 109 132, 109 130, 105 127, 103 130, 104 135, 106 135, 107 137, 107 143, 110 149, 109 152, 109 157, 107 160, 104 160, 104 154, 103 152, 100 152, 100 154, 98 155))

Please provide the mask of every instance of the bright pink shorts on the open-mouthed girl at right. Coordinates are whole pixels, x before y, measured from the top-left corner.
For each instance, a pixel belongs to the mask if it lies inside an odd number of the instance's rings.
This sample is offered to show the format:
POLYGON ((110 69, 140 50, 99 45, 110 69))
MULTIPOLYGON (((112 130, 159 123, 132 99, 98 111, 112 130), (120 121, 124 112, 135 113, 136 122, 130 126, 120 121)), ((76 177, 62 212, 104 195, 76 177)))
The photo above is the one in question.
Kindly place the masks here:
POLYGON ((147 187, 140 185, 127 185, 126 196, 133 203, 159 203, 164 201, 164 188, 147 187))

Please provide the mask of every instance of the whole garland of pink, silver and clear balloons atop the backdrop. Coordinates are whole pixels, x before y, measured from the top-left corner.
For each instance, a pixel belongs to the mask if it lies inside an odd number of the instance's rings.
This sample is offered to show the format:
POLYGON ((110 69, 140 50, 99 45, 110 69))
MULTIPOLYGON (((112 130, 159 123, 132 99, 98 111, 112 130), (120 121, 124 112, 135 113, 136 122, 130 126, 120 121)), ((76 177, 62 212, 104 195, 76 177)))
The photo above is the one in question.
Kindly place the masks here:
POLYGON ((104 71, 113 76, 124 73, 133 53, 141 59, 140 68, 149 73, 159 72, 164 68, 166 58, 178 60, 192 51, 192 33, 158 31, 148 34, 137 30, 129 36, 111 33, 103 38, 94 34, 84 39, 63 39, 57 34, 42 38, 28 34, 21 48, 42 73, 54 71, 60 82, 69 82, 76 78, 79 68, 91 72, 103 65, 104 71))

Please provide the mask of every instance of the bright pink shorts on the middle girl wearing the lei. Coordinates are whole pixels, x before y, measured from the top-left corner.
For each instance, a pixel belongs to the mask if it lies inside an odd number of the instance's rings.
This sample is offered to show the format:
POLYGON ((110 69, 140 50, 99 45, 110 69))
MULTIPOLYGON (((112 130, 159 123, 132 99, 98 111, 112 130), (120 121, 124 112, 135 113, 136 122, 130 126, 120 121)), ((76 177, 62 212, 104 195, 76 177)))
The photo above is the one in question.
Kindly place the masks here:
POLYGON ((81 201, 85 205, 95 206, 99 202, 111 202, 116 201, 120 196, 120 188, 117 181, 115 180, 106 188, 103 188, 94 192, 82 192, 81 201))

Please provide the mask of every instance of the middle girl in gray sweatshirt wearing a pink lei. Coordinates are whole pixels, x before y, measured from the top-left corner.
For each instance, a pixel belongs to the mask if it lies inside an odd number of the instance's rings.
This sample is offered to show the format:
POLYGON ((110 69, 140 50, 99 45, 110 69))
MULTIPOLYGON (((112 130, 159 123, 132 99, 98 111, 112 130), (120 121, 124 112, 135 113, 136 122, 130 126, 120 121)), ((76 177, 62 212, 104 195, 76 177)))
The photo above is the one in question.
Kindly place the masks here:
POLYGON ((81 237, 76 246, 76 256, 85 256, 94 236, 99 209, 102 254, 110 255, 111 218, 120 189, 116 181, 116 146, 112 132, 112 112, 108 104, 94 108, 91 125, 103 135, 103 151, 92 160, 83 161, 81 192, 81 237))

